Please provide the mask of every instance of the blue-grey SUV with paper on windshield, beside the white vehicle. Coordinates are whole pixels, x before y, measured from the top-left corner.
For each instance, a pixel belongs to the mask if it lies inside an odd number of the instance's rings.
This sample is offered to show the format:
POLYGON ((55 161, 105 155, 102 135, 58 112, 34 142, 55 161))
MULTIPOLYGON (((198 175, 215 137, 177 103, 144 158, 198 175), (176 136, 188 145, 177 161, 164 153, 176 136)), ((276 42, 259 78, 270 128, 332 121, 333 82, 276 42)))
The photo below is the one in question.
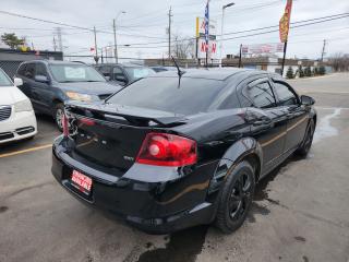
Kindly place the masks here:
POLYGON ((93 67, 81 62, 23 62, 15 76, 23 80, 19 88, 29 97, 35 111, 52 116, 60 130, 64 102, 99 102, 121 88, 107 83, 93 67))

